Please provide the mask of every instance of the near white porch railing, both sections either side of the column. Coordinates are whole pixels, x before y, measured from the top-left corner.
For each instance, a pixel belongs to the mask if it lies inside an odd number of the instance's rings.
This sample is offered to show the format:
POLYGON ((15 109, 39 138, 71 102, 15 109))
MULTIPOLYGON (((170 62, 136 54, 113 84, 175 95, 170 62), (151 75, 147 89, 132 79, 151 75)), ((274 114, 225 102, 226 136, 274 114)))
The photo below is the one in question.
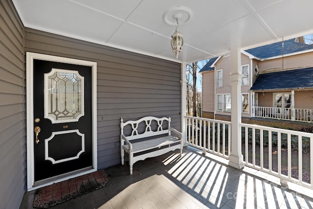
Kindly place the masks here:
MULTIPOLYGON (((188 145, 229 159, 230 122, 185 118, 188 145)), ((313 189, 313 134, 250 124, 241 129, 246 166, 313 189)))

